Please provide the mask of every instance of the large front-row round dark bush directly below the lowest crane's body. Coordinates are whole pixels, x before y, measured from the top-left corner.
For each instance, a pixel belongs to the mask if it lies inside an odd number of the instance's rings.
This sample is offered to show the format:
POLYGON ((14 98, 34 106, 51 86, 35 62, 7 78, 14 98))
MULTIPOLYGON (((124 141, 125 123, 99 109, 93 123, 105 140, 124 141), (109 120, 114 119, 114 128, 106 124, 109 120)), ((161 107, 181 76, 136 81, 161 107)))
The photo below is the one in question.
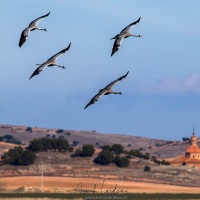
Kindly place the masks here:
POLYGON ((113 161, 113 155, 108 150, 102 150, 99 155, 94 159, 95 163, 108 165, 113 161))

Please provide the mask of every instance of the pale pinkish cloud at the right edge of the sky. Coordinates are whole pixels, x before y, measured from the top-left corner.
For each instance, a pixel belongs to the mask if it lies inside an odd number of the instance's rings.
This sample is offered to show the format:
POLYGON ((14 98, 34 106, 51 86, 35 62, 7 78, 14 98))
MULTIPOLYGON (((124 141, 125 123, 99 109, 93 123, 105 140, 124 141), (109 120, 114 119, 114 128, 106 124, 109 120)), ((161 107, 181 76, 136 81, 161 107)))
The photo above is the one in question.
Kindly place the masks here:
POLYGON ((200 73, 193 73, 184 79, 172 77, 159 81, 146 81, 134 87, 137 93, 143 95, 200 95, 200 73))

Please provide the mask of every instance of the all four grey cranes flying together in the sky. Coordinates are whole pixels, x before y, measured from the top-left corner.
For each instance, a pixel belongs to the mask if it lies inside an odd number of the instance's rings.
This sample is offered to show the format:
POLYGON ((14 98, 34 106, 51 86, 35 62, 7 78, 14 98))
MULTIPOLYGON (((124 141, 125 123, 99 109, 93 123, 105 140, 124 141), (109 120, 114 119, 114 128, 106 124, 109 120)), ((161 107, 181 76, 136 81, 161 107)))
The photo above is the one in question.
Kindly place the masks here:
MULTIPOLYGON (((22 45, 26 42, 26 39, 28 37, 28 35, 30 34, 30 31, 34 31, 34 30, 43 30, 46 31, 46 28, 39 28, 38 27, 38 23, 44 19, 45 17, 48 17, 50 14, 50 12, 46 15, 43 15, 35 20, 33 20, 28 27, 26 27, 22 33, 21 33, 21 37, 19 40, 19 47, 22 47, 22 45)), ((124 38, 130 37, 130 36, 134 36, 134 37, 142 37, 141 35, 133 35, 131 34, 129 31, 131 28, 133 28, 137 23, 140 22, 140 17, 137 21, 129 24, 128 26, 126 26, 119 34, 117 34, 115 37, 111 38, 111 40, 115 40, 114 44, 113 44, 113 48, 112 48, 112 52, 111 52, 111 56, 113 56, 114 53, 116 53, 121 44, 122 44, 122 40, 124 38)), ((29 79, 33 78, 34 76, 38 75, 42 70, 44 70, 46 67, 51 67, 51 66, 58 66, 62 69, 66 69, 64 66, 58 65, 56 63, 56 60, 63 55, 66 51, 68 51, 70 49, 71 46, 71 42, 68 45, 67 48, 61 50, 60 52, 56 53, 55 55, 53 55, 52 57, 50 57, 47 61, 45 61, 42 64, 36 64, 39 65, 39 67, 33 72, 33 74, 30 76, 29 79)), ((86 109, 88 106, 90 106, 91 104, 94 104, 96 101, 99 100, 100 97, 102 97, 103 95, 109 95, 109 94, 122 94, 121 92, 115 92, 112 90, 112 87, 117 84, 118 82, 120 82, 121 80, 123 80, 124 78, 126 78, 126 76, 128 75, 129 71, 121 76, 120 78, 112 81, 110 84, 108 84, 106 87, 104 87, 103 89, 101 89, 91 100, 90 102, 85 106, 84 109, 86 109)))

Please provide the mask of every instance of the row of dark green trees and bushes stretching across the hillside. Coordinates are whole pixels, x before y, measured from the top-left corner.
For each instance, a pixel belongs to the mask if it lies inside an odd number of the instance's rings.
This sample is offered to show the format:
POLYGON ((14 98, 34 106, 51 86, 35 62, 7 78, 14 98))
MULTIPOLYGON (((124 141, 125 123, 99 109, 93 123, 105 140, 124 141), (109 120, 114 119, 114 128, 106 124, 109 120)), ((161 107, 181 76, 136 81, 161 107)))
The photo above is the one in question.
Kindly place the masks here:
MULTIPOLYGON (((6 164, 28 165, 34 162, 36 158, 35 152, 41 151, 73 152, 73 147, 70 147, 68 141, 64 138, 37 138, 30 141, 29 147, 26 150, 24 150, 22 147, 10 149, 7 153, 4 153, 2 160, 6 164)), ((85 144, 82 146, 82 149, 76 149, 71 156, 87 157, 93 156, 94 153, 94 146, 91 144, 85 144)), ((134 149, 126 151, 121 144, 113 144, 112 146, 102 146, 102 151, 93 161, 94 163, 101 165, 115 163, 118 167, 127 167, 130 163, 129 159, 132 157, 139 157, 147 160, 150 159, 149 153, 143 154, 139 150, 134 149)), ((169 164, 165 160, 157 160, 156 157, 152 157, 151 160, 157 164, 169 164)))

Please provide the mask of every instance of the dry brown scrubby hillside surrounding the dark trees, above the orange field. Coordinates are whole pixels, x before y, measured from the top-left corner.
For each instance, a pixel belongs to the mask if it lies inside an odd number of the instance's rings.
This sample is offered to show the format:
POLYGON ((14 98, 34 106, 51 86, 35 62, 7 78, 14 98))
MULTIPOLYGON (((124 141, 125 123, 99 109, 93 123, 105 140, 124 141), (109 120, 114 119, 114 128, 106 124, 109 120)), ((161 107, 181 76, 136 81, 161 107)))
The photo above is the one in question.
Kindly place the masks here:
MULTIPOLYGON (((39 152, 32 165, 0 166, 0 179, 2 180, 6 177, 40 176, 41 169, 43 168, 45 177, 68 177, 73 180, 77 178, 87 178, 87 180, 106 179, 122 182, 135 181, 193 187, 200 186, 199 169, 192 167, 162 166, 150 160, 139 158, 130 159, 130 165, 127 168, 119 168, 114 163, 102 166, 93 162, 100 151, 100 146, 106 144, 120 143, 127 150, 140 149, 143 152, 149 152, 151 156, 154 155, 158 159, 162 159, 181 155, 186 150, 188 143, 129 135, 103 134, 96 131, 0 125, 0 136, 5 135, 11 135, 13 138, 20 140, 24 145, 28 145, 29 141, 34 138, 64 137, 75 148, 79 148, 83 144, 93 144, 96 147, 96 152, 92 157, 85 158, 72 158, 70 152, 39 152), (151 168, 149 172, 144 171, 146 165, 151 168)), ((15 145, 5 142, 0 143, 0 147, 4 147, 4 150, 13 146, 15 145)))

